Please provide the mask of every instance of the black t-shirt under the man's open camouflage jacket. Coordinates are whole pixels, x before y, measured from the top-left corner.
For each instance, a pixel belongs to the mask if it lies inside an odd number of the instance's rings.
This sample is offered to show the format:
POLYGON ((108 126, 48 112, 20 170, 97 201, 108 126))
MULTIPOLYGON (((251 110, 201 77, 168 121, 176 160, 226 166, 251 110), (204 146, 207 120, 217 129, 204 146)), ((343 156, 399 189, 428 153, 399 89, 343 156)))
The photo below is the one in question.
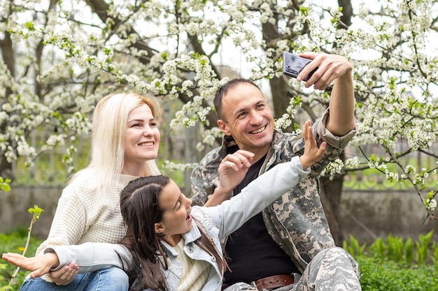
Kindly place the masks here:
MULTIPOLYGON (((239 194, 241 189, 257 178, 265 158, 266 156, 248 169, 241 184, 234 188, 234 195, 239 194)), ((289 256, 269 235, 261 213, 250 218, 228 237, 225 255, 232 270, 225 272, 224 283, 228 285, 249 283, 274 275, 299 273, 289 256)))

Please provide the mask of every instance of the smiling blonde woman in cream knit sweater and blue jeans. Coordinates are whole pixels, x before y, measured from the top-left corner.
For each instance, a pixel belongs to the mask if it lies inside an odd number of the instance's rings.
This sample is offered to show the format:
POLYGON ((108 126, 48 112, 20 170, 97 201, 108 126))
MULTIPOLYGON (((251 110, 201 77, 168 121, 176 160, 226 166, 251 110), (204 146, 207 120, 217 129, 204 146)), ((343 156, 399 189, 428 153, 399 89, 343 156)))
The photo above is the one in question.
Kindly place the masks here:
MULTIPOLYGON (((120 192, 129 181, 160 174, 155 164, 160 144, 155 119, 159 109, 154 98, 139 94, 111 94, 97 103, 90 164, 62 191, 48 238, 38 247, 37 256, 50 246, 116 243, 125 237, 120 192)), ((27 278, 20 290, 128 289, 127 275, 117 268, 77 274, 78 266, 71 263, 43 279, 27 278), (104 278, 111 278, 111 284, 104 278)))

